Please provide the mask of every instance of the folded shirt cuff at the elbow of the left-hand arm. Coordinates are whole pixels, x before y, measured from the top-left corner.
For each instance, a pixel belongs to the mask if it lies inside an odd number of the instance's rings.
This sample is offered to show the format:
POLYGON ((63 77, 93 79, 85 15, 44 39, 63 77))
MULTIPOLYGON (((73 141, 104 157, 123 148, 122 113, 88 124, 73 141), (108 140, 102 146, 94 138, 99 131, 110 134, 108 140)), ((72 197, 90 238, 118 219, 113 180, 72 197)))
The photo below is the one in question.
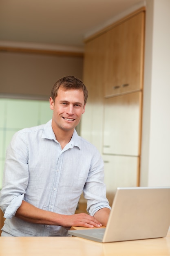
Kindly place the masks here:
POLYGON ((4 213, 4 218, 11 219, 13 216, 15 216, 16 211, 22 204, 23 198, 24 198, 24 194, 17 196, 11 201, 11 203, 9 204, 9 206, 7 207, 4 213))

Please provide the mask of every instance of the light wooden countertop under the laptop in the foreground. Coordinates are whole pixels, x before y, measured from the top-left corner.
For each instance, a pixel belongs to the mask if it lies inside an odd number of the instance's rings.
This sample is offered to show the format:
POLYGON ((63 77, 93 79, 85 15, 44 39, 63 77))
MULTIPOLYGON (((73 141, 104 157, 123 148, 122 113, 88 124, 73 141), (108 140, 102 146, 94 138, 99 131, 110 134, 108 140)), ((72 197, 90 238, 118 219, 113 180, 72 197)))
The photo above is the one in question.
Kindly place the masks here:
POLYGON ((0 256, 170 256, 165 238, 97 243, 77 237, 0 237, 0 256))

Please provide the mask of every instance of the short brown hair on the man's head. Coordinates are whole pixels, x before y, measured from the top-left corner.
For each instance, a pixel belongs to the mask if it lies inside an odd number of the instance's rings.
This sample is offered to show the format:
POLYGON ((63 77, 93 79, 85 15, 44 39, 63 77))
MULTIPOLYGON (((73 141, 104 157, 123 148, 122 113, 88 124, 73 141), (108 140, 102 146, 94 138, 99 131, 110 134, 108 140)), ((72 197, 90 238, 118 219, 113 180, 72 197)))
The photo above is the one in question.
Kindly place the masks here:
POLYGON ((84 83, 76 78, 75 76, 64 76, 60 78, 54 85, 51 90, 51 98, 53 99, 55 103, 55 98, 57 97, 58 89, 62 86, 63 89, 65 90, 71 90, 71 89, 78 89, 82 90, 84 93, 84 105, 87 102, 88 98, 88 90, 84 83))

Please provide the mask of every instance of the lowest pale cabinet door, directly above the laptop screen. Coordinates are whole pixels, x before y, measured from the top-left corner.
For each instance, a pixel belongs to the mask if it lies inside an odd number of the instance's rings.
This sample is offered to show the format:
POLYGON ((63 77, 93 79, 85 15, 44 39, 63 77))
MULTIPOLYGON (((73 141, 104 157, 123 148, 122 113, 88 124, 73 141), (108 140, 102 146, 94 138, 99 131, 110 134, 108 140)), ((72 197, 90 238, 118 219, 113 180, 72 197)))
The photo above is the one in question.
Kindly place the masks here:
POLYGON ((104 182, 109 203, 117 187, 139 186, 139 157, 103 155, 104 182))

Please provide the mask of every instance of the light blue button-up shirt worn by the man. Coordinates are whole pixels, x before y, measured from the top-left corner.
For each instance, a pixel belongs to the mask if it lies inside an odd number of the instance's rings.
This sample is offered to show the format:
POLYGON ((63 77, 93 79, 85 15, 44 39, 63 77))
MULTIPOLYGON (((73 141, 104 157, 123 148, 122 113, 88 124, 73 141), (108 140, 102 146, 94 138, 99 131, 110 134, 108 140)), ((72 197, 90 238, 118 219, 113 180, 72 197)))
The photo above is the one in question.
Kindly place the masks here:
POLYGON ((51 120, 20 130, 7 149, 0 191, 0 208, 6 218, 2 231, 12 236, 67 236, 64 227, 25 222, 15 213, 25 200, 46 211, 72 215, 82 191, 91 216, 101 208, 110 208, 104 163, 95 146, 74 131, 62 149, 51 120))

